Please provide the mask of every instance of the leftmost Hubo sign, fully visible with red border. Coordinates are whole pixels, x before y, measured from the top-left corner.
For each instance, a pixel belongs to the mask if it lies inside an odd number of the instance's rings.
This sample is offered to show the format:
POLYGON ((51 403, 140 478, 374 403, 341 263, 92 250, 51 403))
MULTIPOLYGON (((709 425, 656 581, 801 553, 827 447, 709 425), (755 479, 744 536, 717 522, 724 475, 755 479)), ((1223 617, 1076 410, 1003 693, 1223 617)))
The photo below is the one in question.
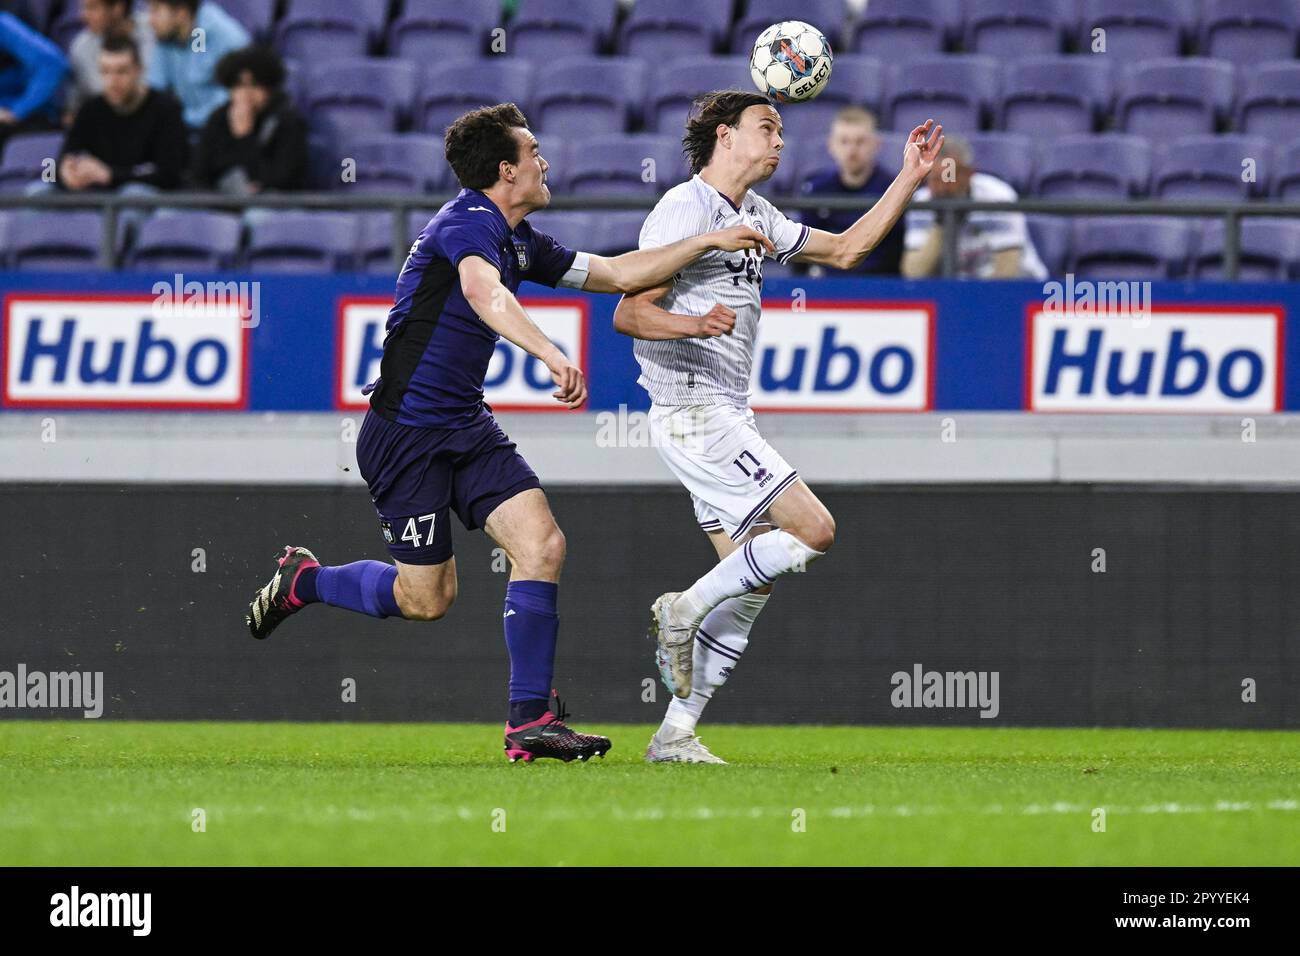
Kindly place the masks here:
POLYGON ((4 405, 243 408, 250 326, 238 299, 10 293, 4 405))

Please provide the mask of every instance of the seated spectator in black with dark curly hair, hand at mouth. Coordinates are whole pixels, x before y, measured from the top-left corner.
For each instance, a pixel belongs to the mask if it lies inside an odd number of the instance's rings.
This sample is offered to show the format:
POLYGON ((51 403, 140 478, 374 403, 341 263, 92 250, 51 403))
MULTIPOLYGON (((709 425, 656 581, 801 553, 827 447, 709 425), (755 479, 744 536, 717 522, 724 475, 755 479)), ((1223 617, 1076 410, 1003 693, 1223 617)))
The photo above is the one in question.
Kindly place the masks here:
POLYGON ((283 92, 285 64, 265 47, 226 53, 217 82, 230 101, 212 111, 194 178, 222 193, 254 195, 307 186, 307 121, 283 92))

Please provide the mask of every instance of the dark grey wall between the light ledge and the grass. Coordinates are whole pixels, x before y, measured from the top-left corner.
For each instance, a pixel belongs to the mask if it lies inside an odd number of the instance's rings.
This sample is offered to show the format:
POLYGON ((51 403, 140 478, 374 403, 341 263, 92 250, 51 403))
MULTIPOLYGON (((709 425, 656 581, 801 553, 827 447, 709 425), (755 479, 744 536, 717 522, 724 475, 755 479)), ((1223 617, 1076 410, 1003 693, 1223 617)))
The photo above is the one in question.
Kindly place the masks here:
MULTIPOLYGON (((556 685, 584 722, 658 721, 647 607, 714 561, 689 501, 662 486, 551 498, 569 542, 556 685)), ((1300 727, 1295 494, 823 498, 835 549, 777 583, 708 721, 1300 727)), ((311 607, 265 643, 242 615, 280 546, 385 557, 364 493, 5 484, 0 537, 0 671, 101 672, 101 719, 503 718, 507 566, 482 535, 456 529, 460 593, 443 620, 311 607)), ((0 706, 0 719, 78 715, 0 706)))

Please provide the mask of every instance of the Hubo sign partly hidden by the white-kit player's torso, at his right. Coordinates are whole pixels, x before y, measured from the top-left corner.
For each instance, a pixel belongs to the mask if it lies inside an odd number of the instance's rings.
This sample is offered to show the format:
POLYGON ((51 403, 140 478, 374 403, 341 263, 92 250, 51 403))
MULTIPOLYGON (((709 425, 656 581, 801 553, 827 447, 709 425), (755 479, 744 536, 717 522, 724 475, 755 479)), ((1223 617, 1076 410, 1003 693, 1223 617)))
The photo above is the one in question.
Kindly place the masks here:
POLYGON ((750 388, 759 411, 933 406, 933 306, 764 302, 750 388))

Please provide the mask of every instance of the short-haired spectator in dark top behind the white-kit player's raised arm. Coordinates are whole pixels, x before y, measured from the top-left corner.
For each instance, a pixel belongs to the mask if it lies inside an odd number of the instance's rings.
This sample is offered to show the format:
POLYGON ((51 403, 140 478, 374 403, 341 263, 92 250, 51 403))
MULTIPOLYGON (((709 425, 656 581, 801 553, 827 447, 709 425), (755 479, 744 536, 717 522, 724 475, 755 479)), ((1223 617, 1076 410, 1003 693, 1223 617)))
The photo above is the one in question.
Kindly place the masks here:
MULTIPOLYGON (((836 113, 826 146, 835 165, 805 177, 801 187, 805 195, 858 196, 863 206, 871 206, 889 189, 894 170, 876 165, 880 137, 876 135, 876 118, 868 111, 845 107, 836 113)), ((862 209, 812 209, 803 213, 802 219, 814 229, 842 233, 861 215, 862 209)), ((902 234, 904 224, 896 222, 855 269, 823 269, 814 265, 811 271, 829 276, 897 276, 902 260, 902 234)))

